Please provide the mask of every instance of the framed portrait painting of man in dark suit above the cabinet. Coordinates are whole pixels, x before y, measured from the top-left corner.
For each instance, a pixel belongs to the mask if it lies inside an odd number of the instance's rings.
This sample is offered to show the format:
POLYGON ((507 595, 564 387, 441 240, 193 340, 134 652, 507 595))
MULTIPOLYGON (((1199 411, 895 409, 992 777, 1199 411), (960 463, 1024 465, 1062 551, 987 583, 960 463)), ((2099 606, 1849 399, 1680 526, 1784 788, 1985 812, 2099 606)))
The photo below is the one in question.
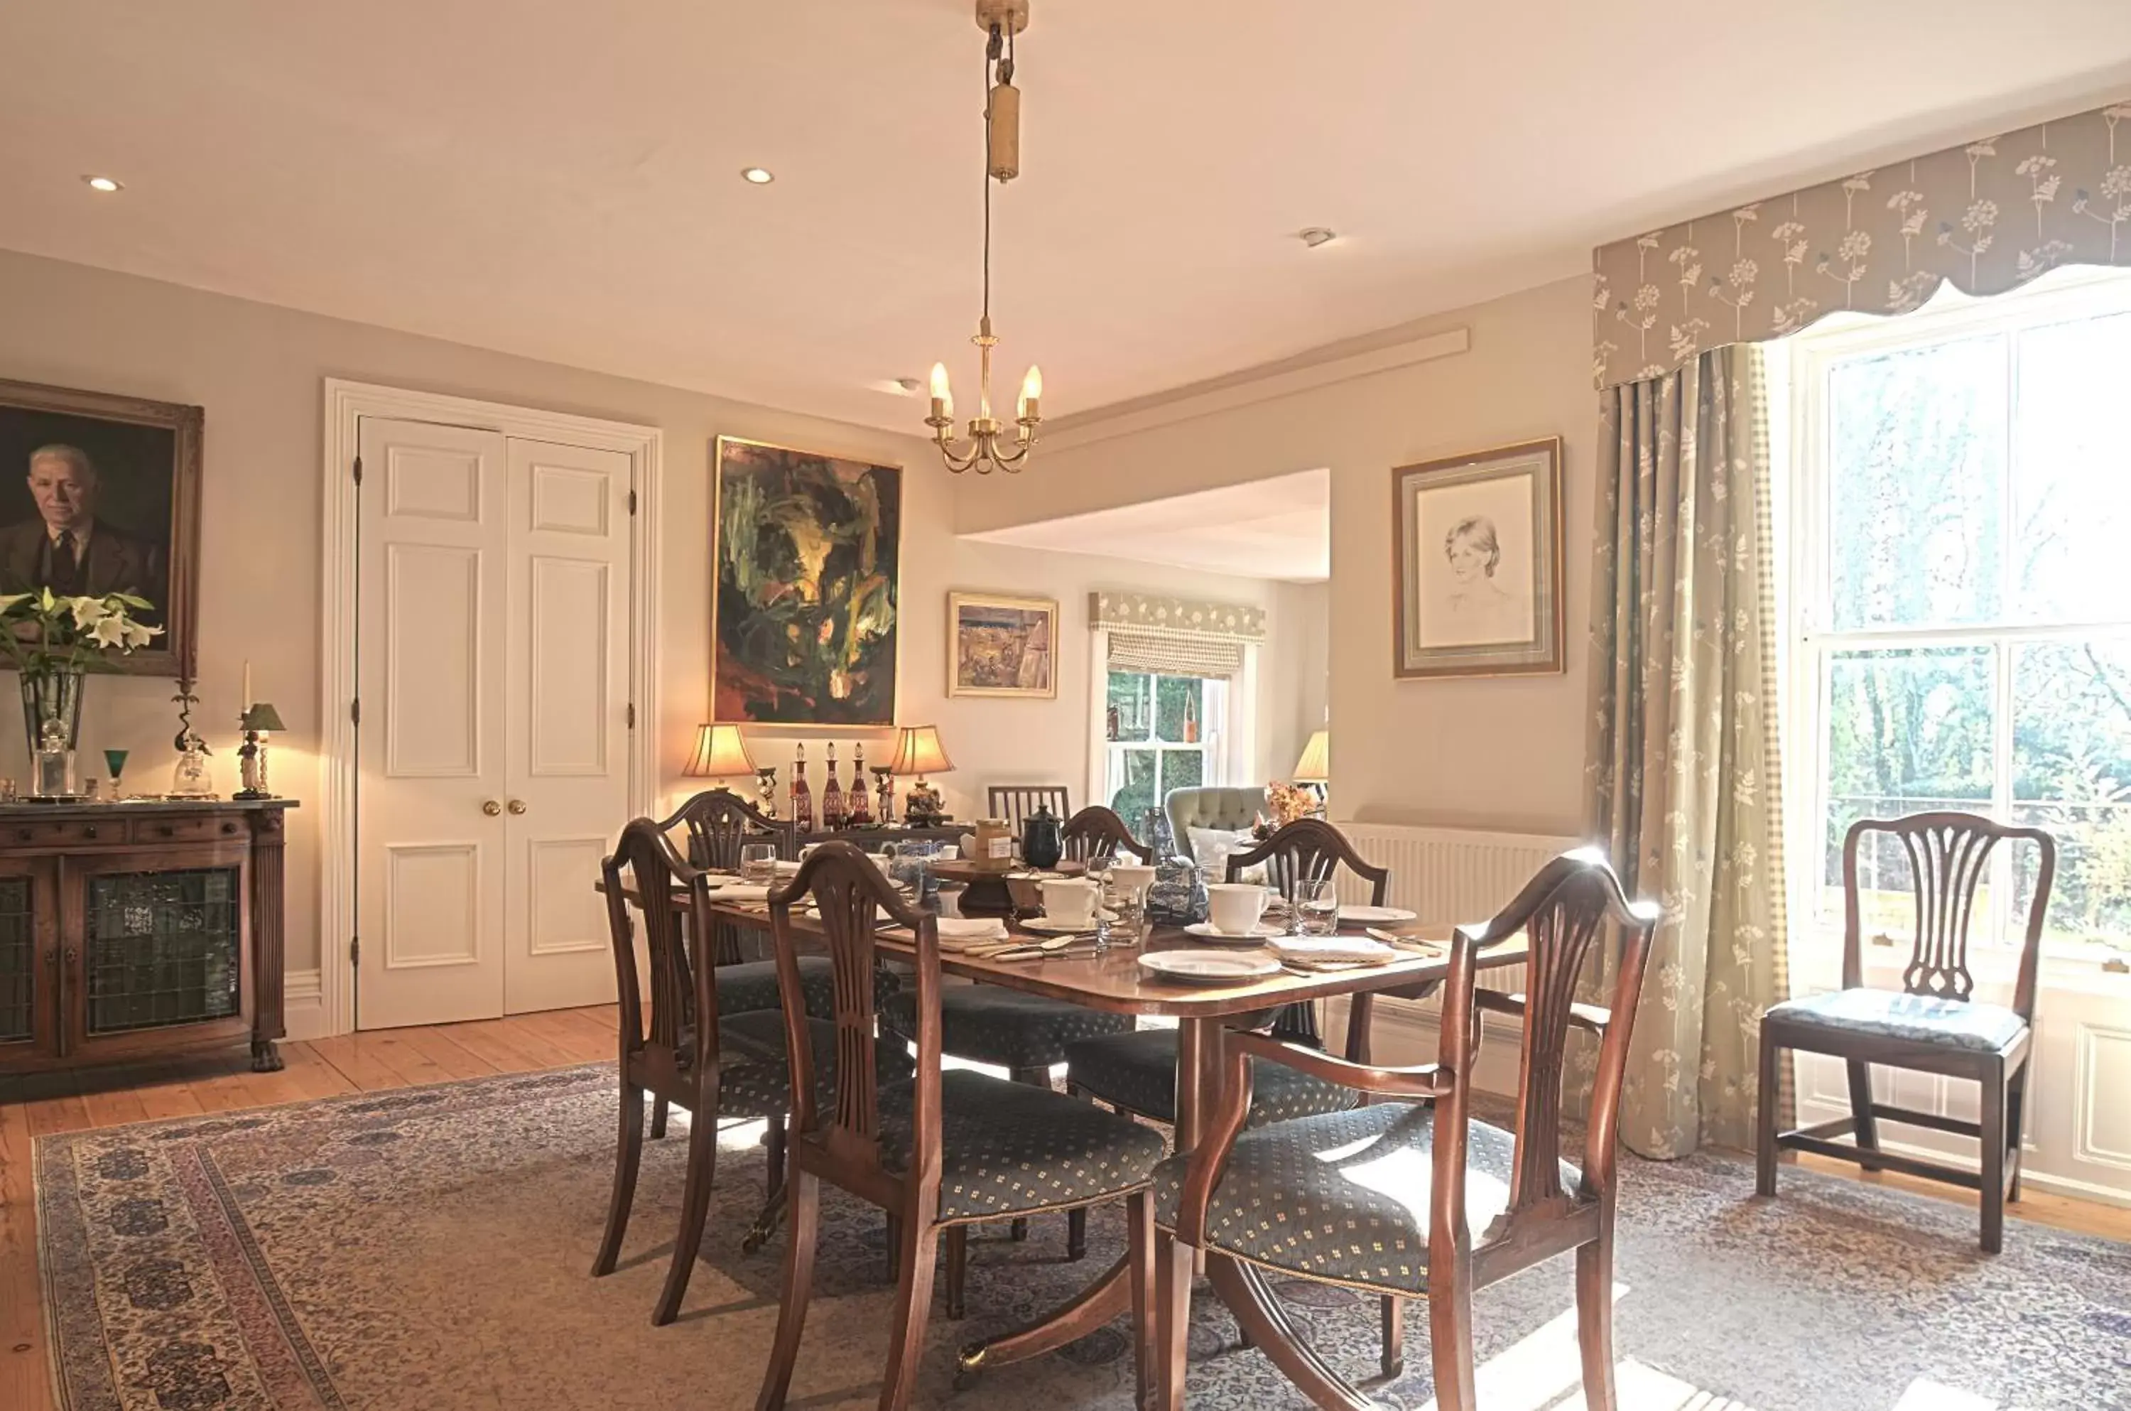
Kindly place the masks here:
POLYGON ((192 661, 200 407, 0 382, 0 593, 128 593, 166 629, 113 669, 192 661))

